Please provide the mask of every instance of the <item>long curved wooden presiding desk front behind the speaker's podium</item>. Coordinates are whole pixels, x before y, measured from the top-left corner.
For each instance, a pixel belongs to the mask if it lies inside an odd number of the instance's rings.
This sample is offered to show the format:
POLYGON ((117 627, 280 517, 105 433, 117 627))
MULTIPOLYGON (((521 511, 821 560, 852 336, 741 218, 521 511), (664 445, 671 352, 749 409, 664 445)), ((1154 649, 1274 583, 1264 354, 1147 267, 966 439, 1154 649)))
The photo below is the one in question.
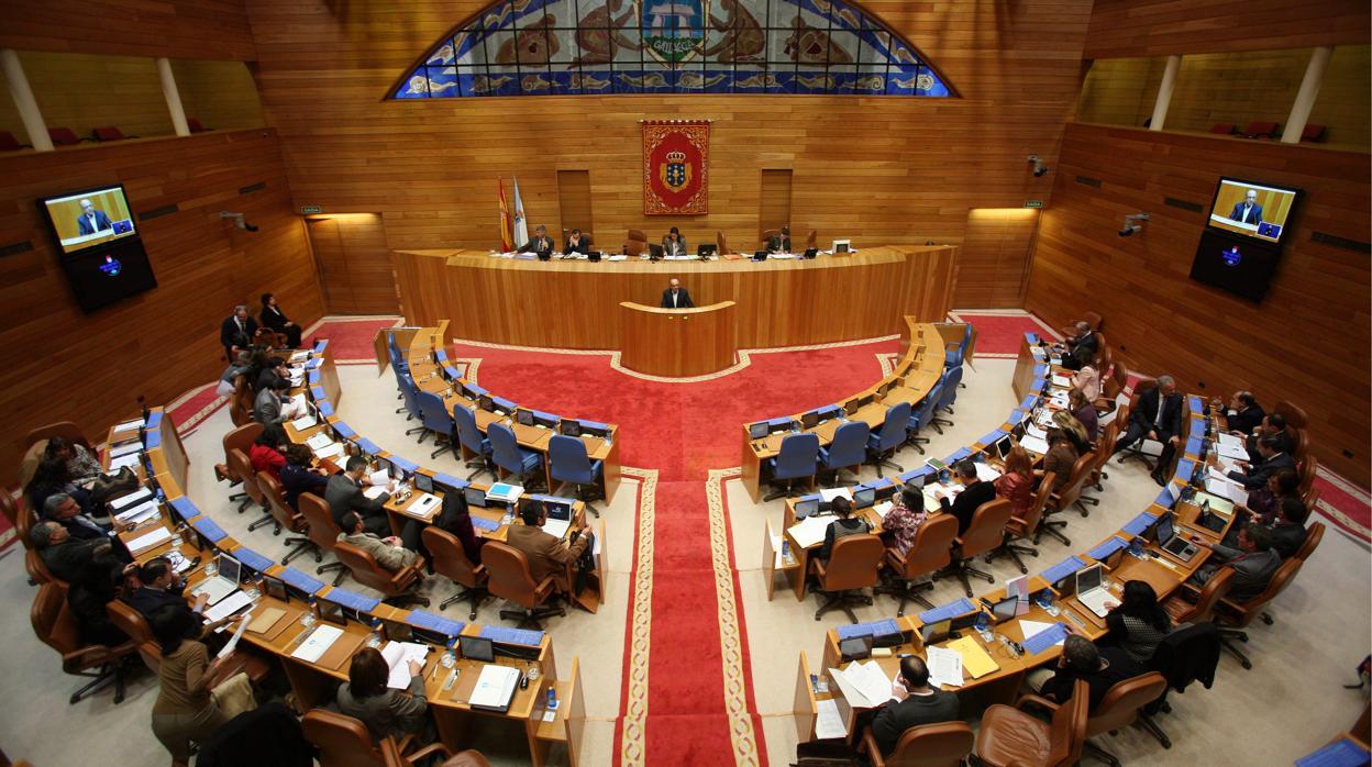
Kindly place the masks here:
POLYGON ((412 325, 451 320, 460 339, 552 349, 624 349, 622 302, 656 303, 672 277, 697 305, 738 303, 741 349, 901 332, 943 320, 956 246, 864 247, 853 255, 752 261, 521 261, 469 250, 398 250, 412 325), (842 307, 841 311, 816 309, 842 307))

